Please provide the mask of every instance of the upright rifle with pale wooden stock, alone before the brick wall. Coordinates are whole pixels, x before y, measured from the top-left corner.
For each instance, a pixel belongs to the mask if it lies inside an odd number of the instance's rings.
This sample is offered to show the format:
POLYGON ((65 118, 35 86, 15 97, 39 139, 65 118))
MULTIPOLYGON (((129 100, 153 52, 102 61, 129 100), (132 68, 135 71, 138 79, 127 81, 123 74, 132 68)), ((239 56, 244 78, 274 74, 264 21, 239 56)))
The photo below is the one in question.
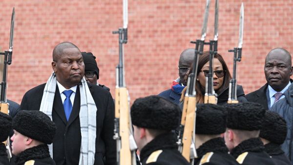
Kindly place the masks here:
POLYGON ((119 34, 119 64, 116 67, 114 140, 117 145, 117 165, 136 165, 136 143, 133 138, 129 95, 125 85, 123 44, 127 43, 127 0, 123 0, 123 28, 119 34))

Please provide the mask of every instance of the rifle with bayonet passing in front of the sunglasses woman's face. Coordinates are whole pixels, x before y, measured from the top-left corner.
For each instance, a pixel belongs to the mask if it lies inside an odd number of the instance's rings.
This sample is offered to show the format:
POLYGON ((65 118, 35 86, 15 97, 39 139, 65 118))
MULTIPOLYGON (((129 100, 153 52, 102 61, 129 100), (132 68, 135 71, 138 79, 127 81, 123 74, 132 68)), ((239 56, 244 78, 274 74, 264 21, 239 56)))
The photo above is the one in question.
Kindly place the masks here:
POLYGON ((209 74, 206 77, 206 93, 205 104, 217 104, 217 96, 213 88, 213 58, 218 51, 218 21, 219 21, 219 1, 215 3, 215 27, 214 27, 214 40, 209 40, 209 74))

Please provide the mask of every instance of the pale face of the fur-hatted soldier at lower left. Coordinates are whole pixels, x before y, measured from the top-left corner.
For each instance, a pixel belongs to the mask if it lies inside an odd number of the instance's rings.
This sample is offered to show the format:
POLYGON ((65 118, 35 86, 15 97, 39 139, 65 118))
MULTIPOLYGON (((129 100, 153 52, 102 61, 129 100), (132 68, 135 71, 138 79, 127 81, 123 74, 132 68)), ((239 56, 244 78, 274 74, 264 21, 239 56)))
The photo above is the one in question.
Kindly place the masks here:
POLYGON ((11 148, 12 153, 14 155, 20 154, 22 151, 26 149, 25 142, 27 140, 27 137, 23 136, 21 133, 14 131, 14 135, 10 138, 12 141, 11 148))

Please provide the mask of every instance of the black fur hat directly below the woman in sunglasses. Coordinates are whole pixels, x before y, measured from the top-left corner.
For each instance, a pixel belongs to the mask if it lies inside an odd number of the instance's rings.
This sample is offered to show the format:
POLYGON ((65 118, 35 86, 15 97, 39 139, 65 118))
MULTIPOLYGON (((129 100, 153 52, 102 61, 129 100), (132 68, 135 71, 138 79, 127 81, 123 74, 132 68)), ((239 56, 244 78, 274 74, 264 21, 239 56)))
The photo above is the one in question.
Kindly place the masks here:
POLYGON ((226 126, 227 113, 222 106, 215 104, 196 105, 196 134, 222 134, 226 131, 226 126))

